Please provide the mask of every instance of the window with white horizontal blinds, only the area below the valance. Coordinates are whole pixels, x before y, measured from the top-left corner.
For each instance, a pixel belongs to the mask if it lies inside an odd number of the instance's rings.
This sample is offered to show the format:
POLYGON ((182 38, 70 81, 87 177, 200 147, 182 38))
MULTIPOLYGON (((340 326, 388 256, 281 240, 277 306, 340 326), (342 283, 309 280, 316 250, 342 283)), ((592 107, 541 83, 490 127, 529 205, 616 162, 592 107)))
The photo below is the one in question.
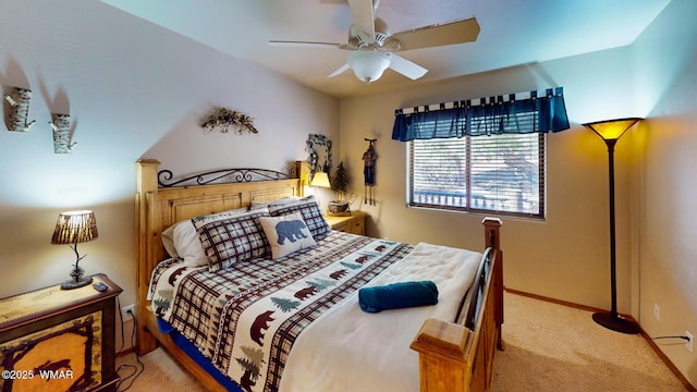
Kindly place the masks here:
POLYGON ((409 142, 408 206, 543 218, 546 135, 409 142))

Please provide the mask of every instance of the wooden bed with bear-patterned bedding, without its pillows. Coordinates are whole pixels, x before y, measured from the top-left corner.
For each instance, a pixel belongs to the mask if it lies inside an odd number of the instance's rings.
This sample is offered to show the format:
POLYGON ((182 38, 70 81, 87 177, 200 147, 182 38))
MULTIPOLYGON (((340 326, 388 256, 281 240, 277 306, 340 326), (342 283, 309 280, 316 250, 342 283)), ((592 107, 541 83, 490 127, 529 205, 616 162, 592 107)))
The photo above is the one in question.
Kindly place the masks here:
POLYGON ((494 353, 503 350, 501 222, 484 220, 481 254, 327 230, 313 216, 317 209, 277 204, 309 206, 303 167, 296 162, 288 176, 216 171, 212 183, 187 177, 192 185, 158 171, 157 160, 137 162, 137 352, 161 345, 207 389, 219 391, 490 390, 494 353), (290 253, 277 254, 278 232, 273 246, 245 240, 246 253, 240 246, 235 252, 246 256, 228 262, 230 246, 221 244, 237 238, 210 234, 231 222, 268 225, 296 218, 310 235, 293 234, 291 226, 285 238, 316 241, 290 253), (207 265, 172 257, 168 240, 181 222, 192 222, 206 252, 222 250, 207 253, 207 265), (213 269, 216 260, 222 264, 213 269), (402 282, 435 282, 437 305, 362 310, 364 293, 367 298, 402 282))

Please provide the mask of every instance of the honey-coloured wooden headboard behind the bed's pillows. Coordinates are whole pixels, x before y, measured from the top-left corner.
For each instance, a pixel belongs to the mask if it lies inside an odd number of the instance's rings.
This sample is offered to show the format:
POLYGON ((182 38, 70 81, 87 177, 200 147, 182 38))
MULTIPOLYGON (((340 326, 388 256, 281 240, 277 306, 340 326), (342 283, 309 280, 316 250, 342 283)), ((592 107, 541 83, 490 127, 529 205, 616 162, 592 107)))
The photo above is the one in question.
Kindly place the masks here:
MULTIPOLYGON (((160 185, 159 164, 152 159, 136 162, 136 306, 142 320, 146 318, 145 311, 149 305, 147 291, 152 269, 169 257, 160 240, 164 229, 184 219, 248 207, 252 201, 303 195, 301 177, 305 166, 302 162, 295 162, 293 173, 282 180, 253 181, 242 175, 233 181, 243 182, 171 187, 160 185)), ((138 326, 138 336, 147 335, 143 333, 144 328, 143 324, 138 326)), ((154 339, 145 340, 138 341, 140 353, 155 348, 154 339)))

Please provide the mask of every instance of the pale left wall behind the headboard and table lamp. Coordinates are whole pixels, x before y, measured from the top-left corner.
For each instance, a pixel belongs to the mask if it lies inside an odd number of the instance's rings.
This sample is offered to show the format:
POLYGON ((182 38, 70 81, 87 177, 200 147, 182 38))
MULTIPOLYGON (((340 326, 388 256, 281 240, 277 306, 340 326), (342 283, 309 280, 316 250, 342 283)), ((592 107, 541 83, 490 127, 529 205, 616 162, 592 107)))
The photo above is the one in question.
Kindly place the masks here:
POLYGON ((81 266, 135 302, 138 158, 182 174, 284 170, 306 157, 308 133, 337 133, 334 98, 98 1, 0 0, 0 84, 30 88, 37 120, 0 128, 0 297, 69 279, 75 256, 50 244, 56 218, 89 208, 99 238, 80 245, 81 266), (259 134, 206 134, 197 121, 213 106, 249 114, 259 134), (72 117, 70 155, 53 154, 51 112, 72 117))

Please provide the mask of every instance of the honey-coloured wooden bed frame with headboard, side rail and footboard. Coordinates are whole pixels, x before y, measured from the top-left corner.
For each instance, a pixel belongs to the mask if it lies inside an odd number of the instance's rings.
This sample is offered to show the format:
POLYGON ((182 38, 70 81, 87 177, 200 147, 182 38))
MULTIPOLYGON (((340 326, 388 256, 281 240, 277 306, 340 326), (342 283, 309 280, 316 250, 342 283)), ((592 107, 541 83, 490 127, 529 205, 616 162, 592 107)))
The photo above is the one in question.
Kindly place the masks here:
MULTIPOLYGON (((143 355, 159 345, 209 390, 224 390, 171 338, 160 333, 147 299, 150 274, 167 257, 160 233, 169 225, 192 217, 249 206, 254 200, 270 200, 301 195, 303 180, 274 180, 224 185, 158 187, 156 160, 137 162, 136 258, 137 258, 137 342, 143 355)), ((503 256, 499 245, 498 219, 485 219, 485 244, 491 248, 484 268, 480 293, 465 308, 472 311, 469 328, 436 319, 427 320, 412 348, 419 352, 421 391, 488 391, 491 387, 493 354, 502 350, 503 256), (484 306, 479 306, 484 304, 484 306), (473 308, 474 306, 474 308, 473 308)))

